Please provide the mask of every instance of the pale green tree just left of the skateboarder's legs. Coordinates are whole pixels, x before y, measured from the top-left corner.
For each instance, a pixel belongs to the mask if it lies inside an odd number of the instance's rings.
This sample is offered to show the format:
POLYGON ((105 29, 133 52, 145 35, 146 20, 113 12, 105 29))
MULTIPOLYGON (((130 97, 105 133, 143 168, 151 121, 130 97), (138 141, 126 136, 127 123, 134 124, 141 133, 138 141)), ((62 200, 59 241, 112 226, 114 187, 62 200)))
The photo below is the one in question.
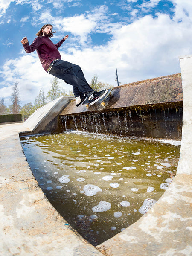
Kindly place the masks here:
POLYGON ((66 93, 66 90, 62 90, 60 83, 58 82, 58 78, 55 77, 51 81, 51 89, 47 93, 47 98, 49 101, 52 101, 59 98, 61 95, 64 95, 64 93, 66 93))

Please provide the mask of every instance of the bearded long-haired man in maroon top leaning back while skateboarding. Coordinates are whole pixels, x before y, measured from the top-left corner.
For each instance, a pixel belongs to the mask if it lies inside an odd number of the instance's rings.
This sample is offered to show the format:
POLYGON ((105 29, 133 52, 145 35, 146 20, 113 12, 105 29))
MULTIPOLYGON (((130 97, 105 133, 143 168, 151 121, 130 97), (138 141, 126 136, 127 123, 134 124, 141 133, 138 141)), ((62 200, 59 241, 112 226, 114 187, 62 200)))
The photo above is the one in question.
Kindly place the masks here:
POLYGON ((64 80, 67 84, 73 85, 73 93, 76 97, 76 106, 80 106, 87 98, 92 105, 107 93, 107 90, 94 91, 84 78, 81 67, 67 61, 61 60, 58 47, 68 38, 66 35, 57 44, 49 39, 53 36, 52 25, 44 25, 36 34, 37 38, 29 45, 27 37, 21 40, 26 53, 37 51, 38 57, 44 70, 64 80))

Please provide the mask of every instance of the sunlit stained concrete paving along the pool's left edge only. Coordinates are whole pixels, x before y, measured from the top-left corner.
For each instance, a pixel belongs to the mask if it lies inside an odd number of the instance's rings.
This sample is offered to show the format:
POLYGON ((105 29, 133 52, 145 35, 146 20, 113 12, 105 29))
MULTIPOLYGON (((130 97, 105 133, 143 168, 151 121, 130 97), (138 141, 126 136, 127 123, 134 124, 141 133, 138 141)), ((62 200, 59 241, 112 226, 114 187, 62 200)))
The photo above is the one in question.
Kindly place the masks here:
POLYGON ((20 145, 22 131, 23 124, 0 125, 0 255, 101 256, 38 187, 20 145))

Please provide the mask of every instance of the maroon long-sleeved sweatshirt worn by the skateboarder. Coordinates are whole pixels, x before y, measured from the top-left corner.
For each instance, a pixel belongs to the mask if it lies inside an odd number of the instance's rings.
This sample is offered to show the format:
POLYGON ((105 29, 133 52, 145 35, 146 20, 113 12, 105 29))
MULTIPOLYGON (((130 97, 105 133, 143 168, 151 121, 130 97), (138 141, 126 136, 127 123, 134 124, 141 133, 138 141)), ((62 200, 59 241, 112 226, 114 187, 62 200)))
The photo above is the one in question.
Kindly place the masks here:
POLYGON ((23 44, 23 47, 26 53, 31 53, 36 50, 44 70, 47 71, 52 61, 55 59, 61 60, 58 47, 60 47, 64 41, 63 38, 57 44, 53 44, 47 36, 39 36, 35 38, 31 45, 27 43, 23 44))

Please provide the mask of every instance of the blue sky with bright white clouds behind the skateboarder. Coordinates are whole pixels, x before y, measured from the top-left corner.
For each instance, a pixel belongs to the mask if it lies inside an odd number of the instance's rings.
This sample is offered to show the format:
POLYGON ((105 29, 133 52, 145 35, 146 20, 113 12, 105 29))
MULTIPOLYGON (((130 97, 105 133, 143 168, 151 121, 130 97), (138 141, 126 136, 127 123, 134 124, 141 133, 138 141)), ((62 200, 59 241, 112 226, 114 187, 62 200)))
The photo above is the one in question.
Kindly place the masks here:
MULTIPOLYGON (((0 0, 0 99, 9 106, 18 82, 21 106, 50 90, 47 74, 29 44, 44 24, 56 31, 61 58, 77 64, 87 82, 117 86, 180 73, 179 57, 192 54, 192 0, 0 0)), ((65 90, 73 87, 60 80, 65 90)))

